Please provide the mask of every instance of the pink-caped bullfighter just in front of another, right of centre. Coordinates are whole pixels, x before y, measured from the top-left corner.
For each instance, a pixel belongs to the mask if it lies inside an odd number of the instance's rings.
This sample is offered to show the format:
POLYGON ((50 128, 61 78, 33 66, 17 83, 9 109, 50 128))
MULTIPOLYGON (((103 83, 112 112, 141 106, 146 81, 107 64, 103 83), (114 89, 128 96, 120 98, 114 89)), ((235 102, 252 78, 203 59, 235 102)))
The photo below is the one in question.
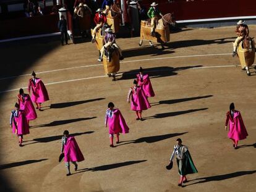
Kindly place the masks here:
POLYGON ((130 103, 132 111, 136 112, 136 120, 142 120, 142 111, 147 110, 151 107, 150 103, 148 102, 147 96, 145 96, 142 87, 138 86, 136 80, 134 80, 134 86, 131 87, 129 90, 127 102, 130 103))

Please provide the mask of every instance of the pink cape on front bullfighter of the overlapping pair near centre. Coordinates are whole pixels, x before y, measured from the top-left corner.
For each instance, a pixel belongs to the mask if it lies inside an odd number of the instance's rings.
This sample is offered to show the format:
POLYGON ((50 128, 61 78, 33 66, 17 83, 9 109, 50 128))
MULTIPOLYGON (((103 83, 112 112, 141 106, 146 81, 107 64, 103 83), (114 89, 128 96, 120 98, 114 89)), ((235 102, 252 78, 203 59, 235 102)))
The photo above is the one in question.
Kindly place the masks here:
POLYGON ((132 109, 132 111, 143 111, 147 110, 150 107, 150 103, 148 102, 148 99, 145 96, 142 88, 140 86, 137 86, 136 91, 134 90, 134 88, 132 88, 130 109, 132 109))

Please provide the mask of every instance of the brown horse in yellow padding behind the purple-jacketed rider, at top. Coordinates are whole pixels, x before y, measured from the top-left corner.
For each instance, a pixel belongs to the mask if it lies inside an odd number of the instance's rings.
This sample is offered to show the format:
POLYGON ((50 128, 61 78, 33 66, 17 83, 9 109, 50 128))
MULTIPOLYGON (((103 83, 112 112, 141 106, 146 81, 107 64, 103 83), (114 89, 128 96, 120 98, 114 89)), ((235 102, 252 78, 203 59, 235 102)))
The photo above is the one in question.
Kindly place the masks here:
POLYGON ((119 4, 114 3, 108 12, 107 15, 107 23, 108 25, 111 25, 111 29, 113 30, 113 33, 117 33, 120 27, 121 22, 121 14, 122 9, 120 8, 119 4))

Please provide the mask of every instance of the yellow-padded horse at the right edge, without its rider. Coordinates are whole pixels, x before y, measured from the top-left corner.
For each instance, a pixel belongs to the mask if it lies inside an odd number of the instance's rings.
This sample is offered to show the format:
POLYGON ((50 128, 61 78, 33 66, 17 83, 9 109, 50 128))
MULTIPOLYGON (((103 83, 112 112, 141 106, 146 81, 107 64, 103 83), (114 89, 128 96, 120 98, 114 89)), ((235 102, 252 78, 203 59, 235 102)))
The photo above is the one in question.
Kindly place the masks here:
POLYGON ((237 56, 242 67, 242 70, 246 70, 248 76, 250 76, 249 67, 254 64, 255 60, 255 43, 254 38, 246 36, 238 45, 237 56))

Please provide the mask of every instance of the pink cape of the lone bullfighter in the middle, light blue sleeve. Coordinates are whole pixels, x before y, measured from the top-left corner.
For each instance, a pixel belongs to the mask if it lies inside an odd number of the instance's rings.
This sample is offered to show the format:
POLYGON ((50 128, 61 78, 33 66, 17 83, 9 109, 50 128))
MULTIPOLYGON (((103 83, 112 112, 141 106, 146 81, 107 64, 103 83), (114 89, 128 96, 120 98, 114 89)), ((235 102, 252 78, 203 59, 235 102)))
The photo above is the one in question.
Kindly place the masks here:
POLYGON ((122 117, 121 111, 119 109, 113 109, 112 118, 106 116, 106 124, 108 123, 109 134, 117 133, 129 133, 129 127, 126 124, 126 120, 122 117))

